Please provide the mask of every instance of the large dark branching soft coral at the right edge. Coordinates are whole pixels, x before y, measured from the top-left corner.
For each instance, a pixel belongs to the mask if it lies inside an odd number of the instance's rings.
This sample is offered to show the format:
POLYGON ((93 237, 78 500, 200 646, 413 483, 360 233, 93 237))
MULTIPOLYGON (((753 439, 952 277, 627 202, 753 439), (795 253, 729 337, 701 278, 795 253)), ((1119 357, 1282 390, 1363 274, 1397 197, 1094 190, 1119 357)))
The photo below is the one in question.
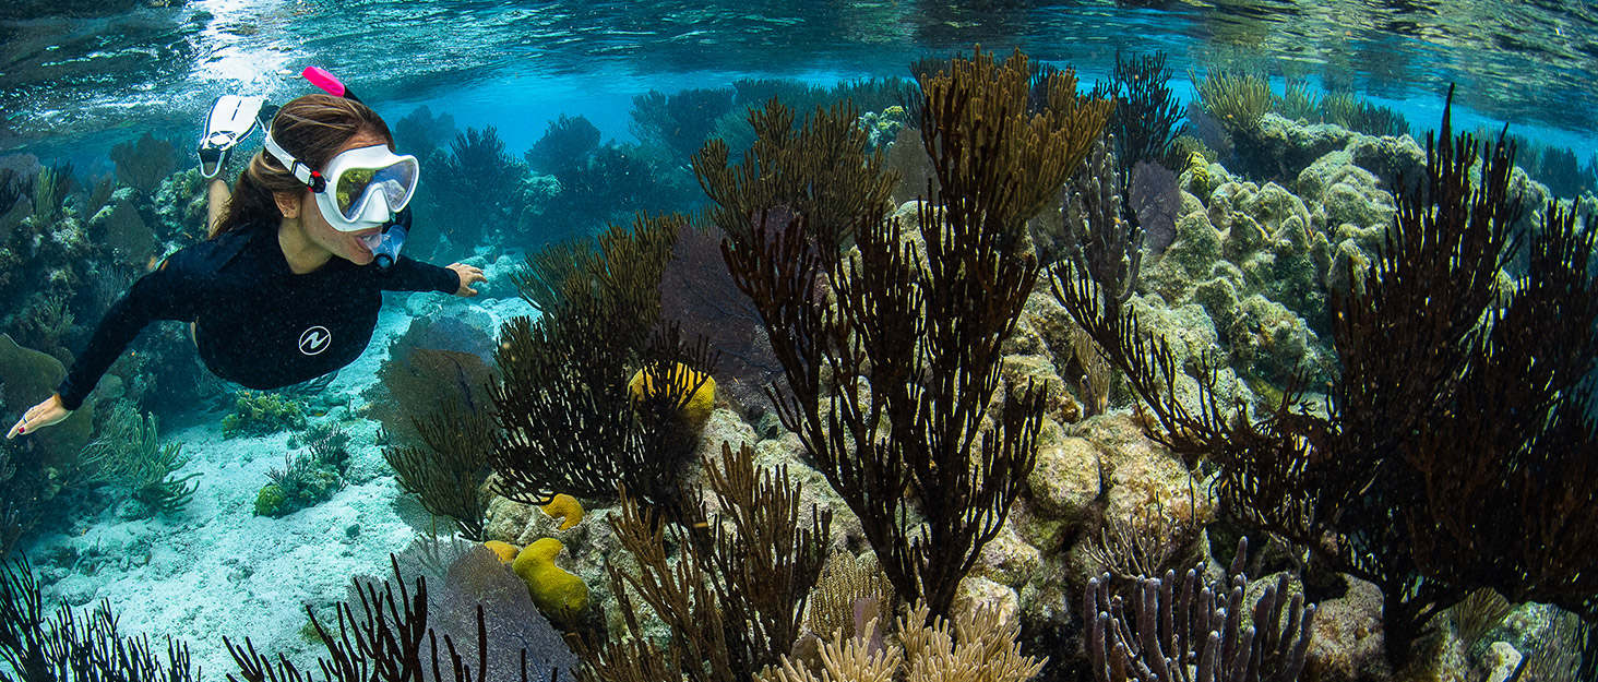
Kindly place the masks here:
POLYGON ((1056 289, 1147 401, 1159 438, 1219 466, 1229 513, 1381 588, 1395 661, 1473 589, 1584 613, 1598 589, 1572 570, 1598 551, 1598 521, 1571 502, 1595 484, 1572 455, 1590 449, 1592 417, 1587 399, 1555 399, 1587 380, 1598 353, 1598 230, 1552 204, 1523 246, 1526 270, 1501 276, 1521 208, 1512 163, 1502 142, 1454 137, 1445 109, 1387 249, 1363 287, 1331 297, 1341 375, 1325 412, 1288 391, 1250 418, 1213 393, 1213 366, 1194 409, 1175 399, 1165 340, 1130 315, 1103 316, 1085 276, 1056 289))

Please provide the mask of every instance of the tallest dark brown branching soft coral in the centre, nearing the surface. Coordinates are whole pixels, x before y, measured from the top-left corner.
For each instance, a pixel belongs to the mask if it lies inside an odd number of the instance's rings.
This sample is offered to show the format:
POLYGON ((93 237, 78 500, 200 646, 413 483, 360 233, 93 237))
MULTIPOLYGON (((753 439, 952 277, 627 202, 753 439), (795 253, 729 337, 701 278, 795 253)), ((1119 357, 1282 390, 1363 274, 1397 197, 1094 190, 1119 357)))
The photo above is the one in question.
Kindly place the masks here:
POLYGON ((753 235, 729 230, 724 249, 786 372, 788 390, 772 395, 778 417, 861 521, 900 596, 924 597, 936 615, 949 613, 1036 458, 1043 391, 1008 387, 989 409, 1000 342, 1037 275, 1013 249, 1111 109, 1080 101, 1074 78, 1056 73, 1047 110, 1031 113, 1026 64, 1020 53, 1002 65, 978 54, 925 80, 920 131, 940 190, 919 208, 919 230, 858 201, 871 211, 855 217, 858 252, 849 257, 836 257, 826 243, 834 232, 809 228, 802 212, 762 214, 753 235), (911 235, 924 246, 903 246, 911 235), (817 300, 823 273, 831 292, 817 300), (866 366, 869 377, 857 372, 866 366), (978 433, 988 418, 992 428, 978 433))

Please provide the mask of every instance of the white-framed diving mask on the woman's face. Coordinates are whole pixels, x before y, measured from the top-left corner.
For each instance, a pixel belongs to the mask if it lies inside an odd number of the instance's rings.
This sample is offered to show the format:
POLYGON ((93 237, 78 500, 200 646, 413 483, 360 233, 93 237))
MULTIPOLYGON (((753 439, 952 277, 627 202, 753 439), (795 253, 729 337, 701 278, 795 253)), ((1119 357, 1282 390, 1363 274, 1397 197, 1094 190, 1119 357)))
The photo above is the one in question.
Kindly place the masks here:
POLYGON ((415 195, 422 166, 415 157, 395 155, 387 145, 340 152, 326 172, 313 171, 288 153, 272 134, 267 153, 316 193, 316 206, 339 232, 360 232, 388 224, 415 195))

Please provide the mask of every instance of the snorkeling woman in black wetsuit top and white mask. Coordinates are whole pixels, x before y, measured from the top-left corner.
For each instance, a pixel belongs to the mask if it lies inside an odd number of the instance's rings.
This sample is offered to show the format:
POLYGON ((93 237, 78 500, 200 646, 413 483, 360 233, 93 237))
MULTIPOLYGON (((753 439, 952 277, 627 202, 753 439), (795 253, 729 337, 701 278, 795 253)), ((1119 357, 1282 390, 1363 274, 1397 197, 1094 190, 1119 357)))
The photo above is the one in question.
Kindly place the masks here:
POLYGON ((476 295, 483 270, 398 256, 420 168, 415 157, 392 152, 393 134, 376 112, 308 94, 264 129, 265 149, 230 200, 213 180, 209 238, 171 254, 112 303, 56 395, 22 414, 6 438, 67 418, 155 319, 192 323, 200 358, 217 377, 270 390, 360 358, 384 291, 476 295))

